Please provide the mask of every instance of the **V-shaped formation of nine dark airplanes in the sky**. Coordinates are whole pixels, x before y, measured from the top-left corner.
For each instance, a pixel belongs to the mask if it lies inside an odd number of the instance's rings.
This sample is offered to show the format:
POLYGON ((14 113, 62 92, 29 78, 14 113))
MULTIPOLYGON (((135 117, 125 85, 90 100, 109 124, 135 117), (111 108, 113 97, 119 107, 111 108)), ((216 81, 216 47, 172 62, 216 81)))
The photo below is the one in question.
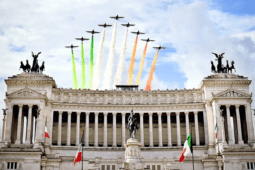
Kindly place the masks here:
MULTIPOLYGON (((119 19, 123 19, 124 17, 122 17, 122 16, 119 16, 119 15, 116 15, 115 17, 114 16, 111 16, 110 17, 111 19, 115 19, 115 20, 119 20, 119 19)), ((131 26, 135 26, 135 24, 129 24, 129 22, 127 23, 127 24, 121 24, 122 26, 124 26, 124 27, 131 27, 131 26)), ((106 28, 106 27, 111 27, 112 25, 108 25, 108 24, 106 24, 106 23, 104 23, 104 24, 98 24, 98 26, 99 27, 104 27, 104 28, 106 28)), ((92 34, 92 37, 93 37, 93 35, 94 34, 99 34, 100 32, 97 32, 97 31, 94 31, 94 29, 92 30, 92 31, 86 31, 87 33, 90 33, 90 34, 92 34)), ((137 36, 138 35, 140 35, 140 34, 145 34, 145 33, 143 33, 143 32, 140 32, 139 30, 137 31, 137 32, 134 32, 134 31, 131 31, 131 33, 133 33, 133 34, 136 34, 137 36)), ((82 43, 83 43, 83 41, 85 41, 85 40, 89 40, 88 38, 83 38, 83 37, 81 37, 81 38, 75 38, 76 40, 80 40, 82 43)), ((151 39, 141 39, 142 41, 146 41, 147 43, 148 42, 153 42, 153 41, 155 41, 155 40, 151 40, 151 39)), ((71 48, 72 49, 72 51, 73 51, 73 48, 75 48, 75 47, 79 47, 79 46, 73 46, 73 45, 71 45, 71 46, 66 46, 66 48, 71 48)), ((166 47, 161 47, 161 46, 159 46, 159 47, 153 47, 154 49, 158 49, 158 50, 161 50, 161 49, 166 49, 166 47)))

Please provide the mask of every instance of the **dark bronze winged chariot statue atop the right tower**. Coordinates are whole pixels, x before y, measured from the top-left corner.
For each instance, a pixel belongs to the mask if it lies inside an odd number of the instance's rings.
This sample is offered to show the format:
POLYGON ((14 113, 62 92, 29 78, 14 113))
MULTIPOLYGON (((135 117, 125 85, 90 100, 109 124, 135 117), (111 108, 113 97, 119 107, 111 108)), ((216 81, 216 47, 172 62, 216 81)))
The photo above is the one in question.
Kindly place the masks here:
POLYGON ((223 55, 225 53, 221 53, 221 54, 216 54, 216 53, 212 53, 216 56, 216 61, 218 61, 218 64, 217 64, 217 69, 215 68, 214 64, 213 64, 213 61, 211 61, 211 71, 213 73, 229 73, 231 72, 232 73, 232 70, 235 70, 235 62, 234 61, 231 61, 231 66, 229 66, 229 63, 228 63, 228 60, 226 60, 226 66, 223 65, 222 63, 222 58, 223 58, 223 55))

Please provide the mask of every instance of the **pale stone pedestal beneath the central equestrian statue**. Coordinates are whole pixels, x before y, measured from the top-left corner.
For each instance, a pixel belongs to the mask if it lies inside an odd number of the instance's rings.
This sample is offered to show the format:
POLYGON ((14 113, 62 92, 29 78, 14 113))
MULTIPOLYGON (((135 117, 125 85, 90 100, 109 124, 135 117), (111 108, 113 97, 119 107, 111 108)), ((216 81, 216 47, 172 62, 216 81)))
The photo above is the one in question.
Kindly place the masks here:
POLYGON ((141 159, 141 143, 135 138, 129 138, 125 145, 125 161, 124 169, 143 169, 143 163, 141 159))

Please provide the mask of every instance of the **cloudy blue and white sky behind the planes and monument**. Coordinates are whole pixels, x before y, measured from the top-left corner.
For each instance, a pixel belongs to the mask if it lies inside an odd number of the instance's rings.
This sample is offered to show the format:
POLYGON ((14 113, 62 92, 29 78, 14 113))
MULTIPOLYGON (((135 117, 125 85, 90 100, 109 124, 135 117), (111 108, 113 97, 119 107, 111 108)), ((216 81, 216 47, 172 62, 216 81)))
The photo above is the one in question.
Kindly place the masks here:
MULTIPOLYGON (((39 64, 45 61, 45 74, 53 77, 58 87, 72 88, 72 60, 67 45, 79 45, 75 38, 91 38, 86 31, 102 32, 98 24, 114 25, 109 16, 124 16, 118 21, 113 73, 124 38, 129 28, 122 84, 127 82, 135 35, 131 31, 145 32, 139 36, 134 79, 139 70, 145 42, 141 38, 156 40, 148 44, 140 89, 144 89, 156 50, 159 52, 152 90, 197 88, 201 80, 211 74, 212 52, 225 52, 226 60, 235 61, 236 74, 254 80, 255 63, 255 1, 254 0, 79 0, 79 1, 14 1, 0 0, 0 107, 5 108, 6 84, 4 79, 17 75, 20 61, 32 64, 31 51, 42 52, 39 64), (64 75, 64 76, 63 76, 64 75)), ((106 28, 103 47, 102 74, 107 63, 113 28, 106 28)), ((101 34, 94 37, 97 56, 101 34)), ((90 41, 84 42, 86 77, 88 77, 90 41)), ((78 82, 81 82, 80 48, 74 49, 78 82)), ((96 61, 96 59, 95 59, 96 61)), ((113 87, 113 80, 112 78, 113 87)), ((102 88, 100 81, 99 89, 102 88)), ((255 92, 255 83, 250 86, 255 92)), ((252 108, 255 108, 253 102, 252 108)), ((2 114, 0 133, 2 133, 2 114)))

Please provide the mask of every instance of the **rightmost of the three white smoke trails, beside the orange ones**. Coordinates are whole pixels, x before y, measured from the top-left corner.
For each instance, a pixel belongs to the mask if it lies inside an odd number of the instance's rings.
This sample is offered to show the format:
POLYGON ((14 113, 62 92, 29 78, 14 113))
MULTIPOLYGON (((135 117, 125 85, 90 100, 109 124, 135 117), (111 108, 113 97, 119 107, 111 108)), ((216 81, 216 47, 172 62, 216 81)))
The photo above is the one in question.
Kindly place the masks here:
POLYGON ((119 64, 118 64, 118 68, 117 68, 117 73, 116 73, 116 76, 115 76, 114 85, 119 85, 121 83, 121 75, 122 75, 122 72, 123 72, 124 61, 125 61, 125 52, 126 52, 126 49, 127 49, 127 34, 128 34, 128 28, 127 28, 127 31, 124 35, 124 40, 123 40, 123 43, 122 43, 122 49, 121 49, 119 64))

